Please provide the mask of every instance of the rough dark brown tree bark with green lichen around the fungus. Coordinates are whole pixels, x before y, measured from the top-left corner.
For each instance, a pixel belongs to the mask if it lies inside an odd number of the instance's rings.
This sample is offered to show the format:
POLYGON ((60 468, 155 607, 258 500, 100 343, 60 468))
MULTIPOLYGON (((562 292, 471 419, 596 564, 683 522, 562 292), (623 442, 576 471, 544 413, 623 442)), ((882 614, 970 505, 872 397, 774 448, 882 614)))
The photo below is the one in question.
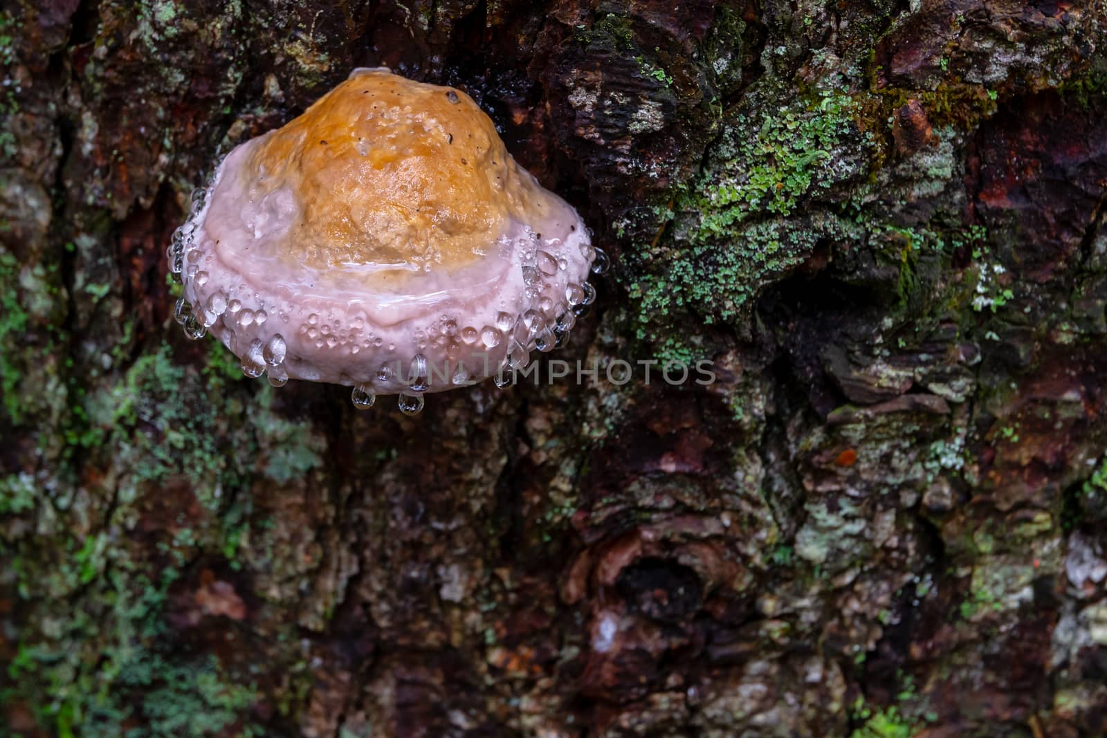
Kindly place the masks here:
POLYGON ((1107 732, 1103 0, 2 7, 0 734, 1107 732), (613 254, 599 381, 169 318, 220 152, 382 63, 613 254))

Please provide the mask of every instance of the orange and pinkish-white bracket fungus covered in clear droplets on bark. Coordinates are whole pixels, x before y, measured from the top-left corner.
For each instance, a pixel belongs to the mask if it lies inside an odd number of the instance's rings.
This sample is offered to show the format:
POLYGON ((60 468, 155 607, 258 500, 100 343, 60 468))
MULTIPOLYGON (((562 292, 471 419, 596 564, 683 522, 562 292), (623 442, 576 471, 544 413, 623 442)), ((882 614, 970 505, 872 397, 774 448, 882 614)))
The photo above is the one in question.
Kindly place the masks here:
POLYGON ((588 301, 593 258, 468 95, 384 69, 236 147, 170 247, 186 333, 275 384, 371 394, 525 364, 588 301))

